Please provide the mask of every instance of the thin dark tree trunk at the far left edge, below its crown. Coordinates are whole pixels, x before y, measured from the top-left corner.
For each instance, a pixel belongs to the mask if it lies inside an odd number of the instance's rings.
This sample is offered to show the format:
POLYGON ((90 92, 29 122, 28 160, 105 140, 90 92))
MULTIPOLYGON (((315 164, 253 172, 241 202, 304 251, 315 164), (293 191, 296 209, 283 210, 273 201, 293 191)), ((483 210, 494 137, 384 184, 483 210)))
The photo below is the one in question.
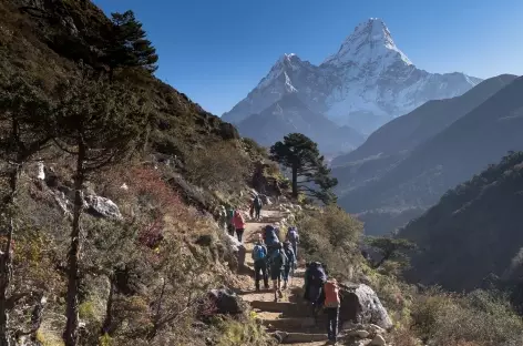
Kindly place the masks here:
POLYGON ((8 240, 3 254, 0 255, 0 346, 10 346, 9 335, 9 311, 7 306, 9 288, 11 286, 11 271, 12 271, 12 257, 11 257, 11 245, 12 236, 14 233, 14 222, 12 216, 12 206, 14 203, 14 194, 17 193, 18 179, 20 176, 20 164, 17 164, 14 170, 9 176, 10 194, 7 201, 7 210, 9 213, 9 225, 8 225, 8 240))

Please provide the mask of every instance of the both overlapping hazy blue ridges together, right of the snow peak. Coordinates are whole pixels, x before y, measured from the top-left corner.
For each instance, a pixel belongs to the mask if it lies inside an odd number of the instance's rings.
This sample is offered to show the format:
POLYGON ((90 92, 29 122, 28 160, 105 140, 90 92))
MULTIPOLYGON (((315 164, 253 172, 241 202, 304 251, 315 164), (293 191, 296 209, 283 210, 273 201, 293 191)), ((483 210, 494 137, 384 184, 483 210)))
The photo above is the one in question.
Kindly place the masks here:
POLYGON ((367 233, 404 225, 447 190, 523 149, 522 94, 523 78, 500 75, 382 126, 332 161, 340 205, 367 222, 367 233))

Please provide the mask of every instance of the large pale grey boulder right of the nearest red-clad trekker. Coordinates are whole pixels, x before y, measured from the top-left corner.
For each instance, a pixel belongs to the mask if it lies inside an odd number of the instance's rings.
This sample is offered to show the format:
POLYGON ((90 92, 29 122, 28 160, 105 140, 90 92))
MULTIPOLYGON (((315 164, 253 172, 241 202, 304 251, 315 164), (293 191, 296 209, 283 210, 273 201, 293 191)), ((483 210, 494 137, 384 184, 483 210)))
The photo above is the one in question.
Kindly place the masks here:
POLYGON ((340 323, 351 320, 375 324, 383 329, 392 328, 392 320, 372 288, 365 284, 340 285, 340 323))

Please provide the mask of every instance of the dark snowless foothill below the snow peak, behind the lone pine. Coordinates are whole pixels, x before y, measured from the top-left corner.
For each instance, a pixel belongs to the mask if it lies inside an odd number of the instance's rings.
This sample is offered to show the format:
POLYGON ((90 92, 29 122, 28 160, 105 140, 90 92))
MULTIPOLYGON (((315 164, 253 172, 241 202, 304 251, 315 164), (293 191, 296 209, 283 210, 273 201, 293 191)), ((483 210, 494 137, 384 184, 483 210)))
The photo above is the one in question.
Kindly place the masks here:
POLYGON ((289 133, 302 133, 318 143, 322 153, 340 153, 357 147, 363 135, 348 126, 338 126, 324 115, 312 112, 295 93, 259 114, 253 114, 237 124, 243 136, 260 145, 270 146, 289 133))

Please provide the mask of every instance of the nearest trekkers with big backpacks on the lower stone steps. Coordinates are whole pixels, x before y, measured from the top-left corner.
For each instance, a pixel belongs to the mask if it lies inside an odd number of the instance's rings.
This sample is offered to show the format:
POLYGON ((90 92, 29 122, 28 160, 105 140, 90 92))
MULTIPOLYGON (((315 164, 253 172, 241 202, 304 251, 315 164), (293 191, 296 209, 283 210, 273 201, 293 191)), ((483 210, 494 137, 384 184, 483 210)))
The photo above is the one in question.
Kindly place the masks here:
MULTIPOLYGON (((268 277, 273 281, 274 301, 283 298, 281 288, 288 287, 297 268, 299 235, 295 226, 288 228, 285 242, 279 241, 279 228, 265 226, 253 248, 256 291, 259 292, 259 282, 264 279, 268 289, 268 277), (281 281, 284 285, 281 287, 281 281)), ((336 344, 339 319, 339 286, 335 278, 328 278, 326 265, 319 262, 306 264, 304 298, 310 304, 311 314, 316 320, 322 307, 327 314, 327 334, 329 342, 336 344)))

